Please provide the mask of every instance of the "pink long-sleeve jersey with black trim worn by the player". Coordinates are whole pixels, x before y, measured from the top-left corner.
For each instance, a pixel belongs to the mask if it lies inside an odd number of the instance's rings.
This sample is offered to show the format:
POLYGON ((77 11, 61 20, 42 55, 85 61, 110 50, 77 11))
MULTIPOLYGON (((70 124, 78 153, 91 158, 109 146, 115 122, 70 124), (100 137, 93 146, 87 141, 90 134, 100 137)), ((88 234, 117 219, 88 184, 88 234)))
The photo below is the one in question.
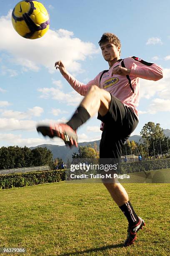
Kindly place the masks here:
POLYGON ((157 81, 163 77, 163 70, 157 64, 148 63, 138 57, 128 57, 118 60, 110 69, 102 75, 100 72, 93 80, 87 84, 77 81, 72 75, 67 73, 64 77, 72 88, 85 96, 92 85, 107 90, 111 95, 117 97, 121 102, 131 108, 138 118, 137 107, 140 96, 140 78, 157 81), (129 76, 112 75, 115 66, 122 66, 131 69, 129 76), (102 77, 101 77, 102 75, 102 77))

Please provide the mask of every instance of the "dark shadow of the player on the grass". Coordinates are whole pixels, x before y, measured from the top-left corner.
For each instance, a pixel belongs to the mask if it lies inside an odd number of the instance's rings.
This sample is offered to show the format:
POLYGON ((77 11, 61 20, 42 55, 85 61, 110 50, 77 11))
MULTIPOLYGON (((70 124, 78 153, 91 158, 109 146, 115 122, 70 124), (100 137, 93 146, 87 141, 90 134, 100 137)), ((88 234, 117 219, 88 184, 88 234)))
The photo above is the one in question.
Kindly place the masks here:
POLYGON ((78 255, 78 254, 81 255, 83 253, 105 251, 107 249, 112 249, 112 248, 123 248, 123 243, 115 244, 115 245, 109 245, 109 246, 102 246, 102 247, 93 248, 93 249, 89 249, 89 250, 85 250, 85 251, 76 251, 76 252, 62 253, 62 254, 59 254, 59 256, 69 256, 69 255, 78 255))

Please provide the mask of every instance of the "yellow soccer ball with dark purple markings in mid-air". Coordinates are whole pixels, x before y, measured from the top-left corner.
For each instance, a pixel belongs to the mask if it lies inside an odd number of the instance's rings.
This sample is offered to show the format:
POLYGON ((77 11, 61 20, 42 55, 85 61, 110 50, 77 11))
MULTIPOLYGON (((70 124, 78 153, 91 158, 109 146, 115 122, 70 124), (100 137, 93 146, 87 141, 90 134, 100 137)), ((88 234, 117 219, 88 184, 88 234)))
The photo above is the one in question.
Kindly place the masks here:
POLYGON ((12 13, 12 23, 20 36, 29 39, 42 37, 50 27, 50 19, 44 5, 38 1, 20 1, 12 13))

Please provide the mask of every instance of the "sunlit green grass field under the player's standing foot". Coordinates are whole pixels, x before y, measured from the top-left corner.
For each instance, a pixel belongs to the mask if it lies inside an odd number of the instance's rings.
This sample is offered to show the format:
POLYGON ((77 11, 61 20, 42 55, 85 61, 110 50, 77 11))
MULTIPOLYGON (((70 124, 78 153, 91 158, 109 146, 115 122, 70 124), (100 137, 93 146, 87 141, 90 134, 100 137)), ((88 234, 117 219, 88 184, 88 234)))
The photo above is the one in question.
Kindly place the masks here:
POLYGON ((135 245, 123 248, 128 223, 102 184, 59 182, 0 190, 0 247, 30 256, 170 255, 170 184, 124 187, 146 222, 135 245))

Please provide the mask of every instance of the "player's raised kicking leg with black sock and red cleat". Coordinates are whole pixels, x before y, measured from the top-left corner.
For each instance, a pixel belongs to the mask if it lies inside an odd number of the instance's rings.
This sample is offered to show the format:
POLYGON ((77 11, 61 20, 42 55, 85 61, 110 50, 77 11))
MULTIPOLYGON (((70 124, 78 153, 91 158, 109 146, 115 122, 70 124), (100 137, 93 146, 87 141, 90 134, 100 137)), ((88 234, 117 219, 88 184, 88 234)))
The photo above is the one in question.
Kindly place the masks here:
POLYGON ((92 85, 67 124, 38 125, 37 131, 50 138, 55 136, 62 138, 69 146, 73 144, 77 146, 77 128, 97 111, 101 116, 105 115, 110 107, 110 102, 111 95, 109 92, 92 85))

